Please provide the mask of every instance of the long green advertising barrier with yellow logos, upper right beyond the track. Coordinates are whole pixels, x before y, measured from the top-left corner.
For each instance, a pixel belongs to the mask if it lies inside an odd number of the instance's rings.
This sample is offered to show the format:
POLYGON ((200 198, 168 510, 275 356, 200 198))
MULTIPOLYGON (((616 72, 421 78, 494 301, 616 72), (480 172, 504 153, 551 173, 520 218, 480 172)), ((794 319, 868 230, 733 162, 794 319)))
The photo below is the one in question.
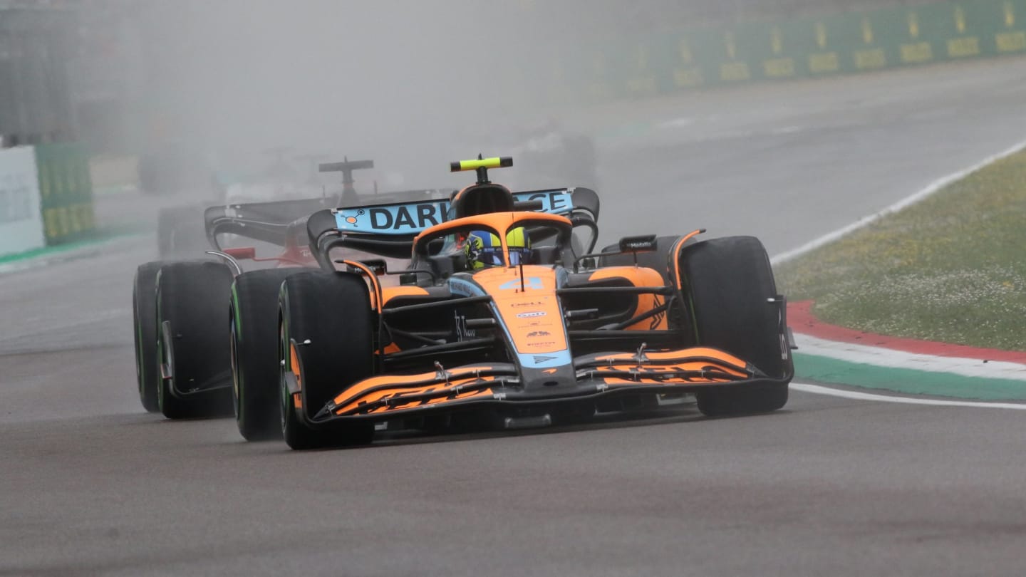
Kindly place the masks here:
POLYGON ((965 0, 606 39, 547 76, 553 102, 603 102, 1015 53, 1026 0, 965 0))

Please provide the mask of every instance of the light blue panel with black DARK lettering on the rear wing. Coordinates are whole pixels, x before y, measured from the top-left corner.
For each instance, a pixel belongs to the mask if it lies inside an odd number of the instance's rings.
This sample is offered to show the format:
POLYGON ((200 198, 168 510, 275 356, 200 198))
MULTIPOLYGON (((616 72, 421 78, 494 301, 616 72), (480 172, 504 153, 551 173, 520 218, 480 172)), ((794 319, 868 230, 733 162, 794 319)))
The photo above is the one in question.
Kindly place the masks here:
MULTIPOLYGON (((516 192, 517 202, 538 200, 541 213, 565 215, 574 209, 566 189, 516 192)), ((418 234, 448 220, 448 200, 378 204, 334 210, 336 227, 344 232, 370 234, 418 234)))

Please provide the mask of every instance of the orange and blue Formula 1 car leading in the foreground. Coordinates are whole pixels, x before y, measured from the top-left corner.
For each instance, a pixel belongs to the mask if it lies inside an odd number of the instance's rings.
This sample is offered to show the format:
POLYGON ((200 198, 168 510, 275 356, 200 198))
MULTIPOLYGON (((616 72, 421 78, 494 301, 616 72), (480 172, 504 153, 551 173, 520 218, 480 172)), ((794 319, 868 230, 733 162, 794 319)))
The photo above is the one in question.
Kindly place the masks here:
POLYGON ((696 230, 595 253, 597 195, 489 182, 510 165, 452 163, 477 182, 448 201, 310 217, 323 270, 288 276, 279 294, 289 447, 362 445, 382 428, 580 422, 685 393, 708 416, 787 402, 786 303, 758 239, 696 230), (390 271, 333 258, 342 248, 412 259, 390 271))

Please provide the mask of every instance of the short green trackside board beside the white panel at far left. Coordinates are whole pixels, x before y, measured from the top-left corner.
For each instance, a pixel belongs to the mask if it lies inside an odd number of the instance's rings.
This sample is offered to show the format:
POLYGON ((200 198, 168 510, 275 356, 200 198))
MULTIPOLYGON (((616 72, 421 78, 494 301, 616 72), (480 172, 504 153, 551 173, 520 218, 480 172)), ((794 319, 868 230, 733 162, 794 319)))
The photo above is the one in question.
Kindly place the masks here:
POLYGON ((36 148, 39 193, 46 244, 81 240, 95 229, 89 161, 81 144, 36 148))

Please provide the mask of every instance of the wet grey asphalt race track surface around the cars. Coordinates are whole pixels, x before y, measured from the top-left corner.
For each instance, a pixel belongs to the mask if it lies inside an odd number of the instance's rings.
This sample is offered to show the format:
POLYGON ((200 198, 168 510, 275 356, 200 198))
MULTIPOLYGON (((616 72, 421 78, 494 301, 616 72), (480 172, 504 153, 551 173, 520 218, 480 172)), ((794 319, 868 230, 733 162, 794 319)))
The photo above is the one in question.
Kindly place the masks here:
MULTIPOLYGON (((604 239, 704 226, 781 253, 1026 139, 1023 102, 1009 60, 650 103, 632 114, 680 128, 605 143, 604 239)), ((1024 572, 1018 411, 793 393, 305 454, 144 414, 145 244, 0 276, 0 575, 1024 572)))

